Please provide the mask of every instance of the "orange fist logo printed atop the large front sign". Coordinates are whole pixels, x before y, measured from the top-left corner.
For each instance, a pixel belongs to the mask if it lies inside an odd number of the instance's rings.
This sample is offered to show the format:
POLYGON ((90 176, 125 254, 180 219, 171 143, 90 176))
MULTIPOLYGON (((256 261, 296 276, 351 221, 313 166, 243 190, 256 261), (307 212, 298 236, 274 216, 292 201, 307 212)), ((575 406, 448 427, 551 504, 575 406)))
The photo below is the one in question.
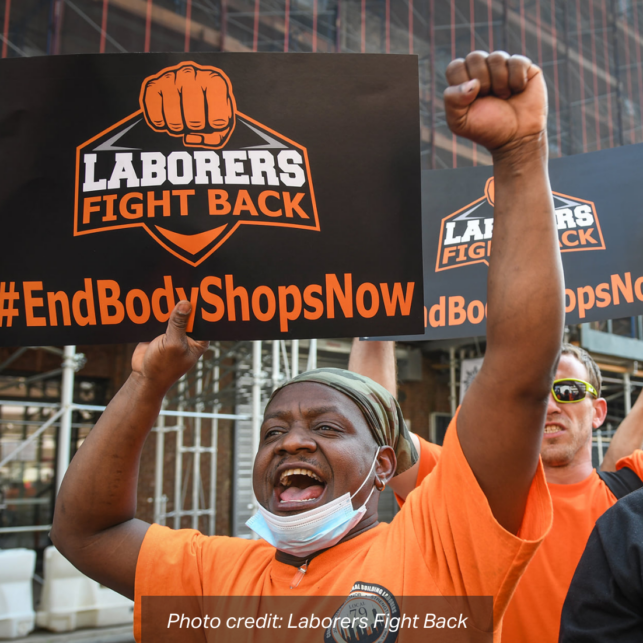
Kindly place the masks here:
POLYGON ((141 109, 157 132, 182 136, 192 147, 223 147, 235 126, 230 79, 216 67, 185 62, 146 78, 141 109))

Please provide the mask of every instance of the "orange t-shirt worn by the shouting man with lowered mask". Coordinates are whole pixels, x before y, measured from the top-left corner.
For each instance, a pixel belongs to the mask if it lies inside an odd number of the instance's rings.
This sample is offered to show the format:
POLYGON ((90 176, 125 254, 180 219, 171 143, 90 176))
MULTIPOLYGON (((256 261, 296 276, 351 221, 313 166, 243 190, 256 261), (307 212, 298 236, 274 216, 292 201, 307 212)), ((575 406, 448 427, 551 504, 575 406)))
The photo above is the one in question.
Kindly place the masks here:
MULTIPOLYGON (((492 596, 497 643, 509 598, 551 520, 539 466, 521 537, 503 529, 454 428, 433 474, 409 494, 393 521, 313 558, 295 589, 290 584, 297 570, 277 561, 275 549, 263 540, 152 525, 136 567, 134 634, 140 643, 143 596, 348 596, 362 582, 397 597, 492 596)), ((491 629, 488 621, 476 627, 491 629)))

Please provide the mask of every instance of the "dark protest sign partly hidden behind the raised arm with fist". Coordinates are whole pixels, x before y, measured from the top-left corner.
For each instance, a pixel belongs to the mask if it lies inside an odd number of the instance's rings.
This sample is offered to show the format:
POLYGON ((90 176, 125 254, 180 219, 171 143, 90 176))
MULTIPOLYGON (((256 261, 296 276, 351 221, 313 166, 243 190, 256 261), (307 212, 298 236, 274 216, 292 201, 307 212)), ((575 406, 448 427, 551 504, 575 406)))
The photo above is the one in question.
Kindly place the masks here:
MULTIPOLYGON (((566 323, 643 314, 643 145, 552 159, 549 173, 565 272, 566 323)), ((422 173, 425 332, 486 332, 493 243, 491 167, 422 173)), ((518 210, 529 215, 527 204, 518 210)))

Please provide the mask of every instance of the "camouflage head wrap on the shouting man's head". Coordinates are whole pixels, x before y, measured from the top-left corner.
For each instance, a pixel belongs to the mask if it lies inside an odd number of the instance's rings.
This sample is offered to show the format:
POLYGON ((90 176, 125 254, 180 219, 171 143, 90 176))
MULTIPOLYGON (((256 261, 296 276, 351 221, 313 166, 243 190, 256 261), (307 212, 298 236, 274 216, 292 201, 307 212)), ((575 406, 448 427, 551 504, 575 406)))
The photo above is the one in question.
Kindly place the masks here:
MULTIPOLYGON (((364 415, 368 428, 378 446, 389 446, 395 450, 397 469, 395 475, 404 473, 418 460, 418 454, 406 428, 402 409, 397 400, 383 386, 369 377, 345 371, 341 368, 318 368, 307 371, 275 389, 277 391, 290 384, 314 382, 330 386, 349 397, 364 415)), ((270 402, 268 402, 270 403, 270 402)))

